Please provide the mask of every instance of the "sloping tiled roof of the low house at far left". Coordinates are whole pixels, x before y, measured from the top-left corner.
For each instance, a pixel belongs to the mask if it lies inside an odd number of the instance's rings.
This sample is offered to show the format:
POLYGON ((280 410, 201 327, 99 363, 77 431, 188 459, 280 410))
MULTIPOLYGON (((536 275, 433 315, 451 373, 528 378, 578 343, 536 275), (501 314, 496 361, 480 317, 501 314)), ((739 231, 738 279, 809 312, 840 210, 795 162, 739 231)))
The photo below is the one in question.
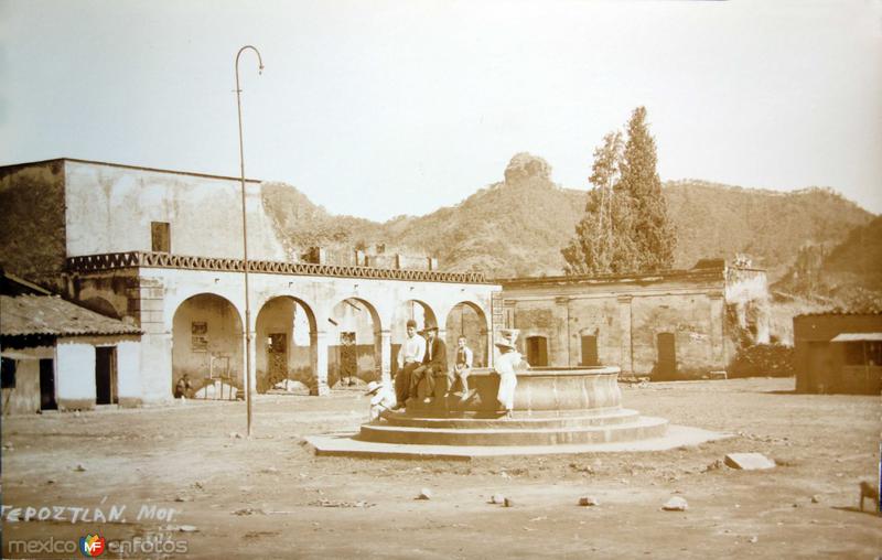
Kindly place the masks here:
POLYGON ((3 336, 140 334, 137 326, 80 308, 57 295, 0 295, 3 336))

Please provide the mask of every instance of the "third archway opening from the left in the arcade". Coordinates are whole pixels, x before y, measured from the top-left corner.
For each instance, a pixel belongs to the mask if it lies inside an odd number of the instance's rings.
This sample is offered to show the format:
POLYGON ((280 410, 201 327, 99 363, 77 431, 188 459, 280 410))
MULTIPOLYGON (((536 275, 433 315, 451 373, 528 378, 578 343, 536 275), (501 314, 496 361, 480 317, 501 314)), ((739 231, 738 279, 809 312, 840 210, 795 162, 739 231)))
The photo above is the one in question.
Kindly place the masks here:
POLYGON ((362 298, 340 300, 329 315, 327 384, 347 386, 381 377, 383 323, 362 298))

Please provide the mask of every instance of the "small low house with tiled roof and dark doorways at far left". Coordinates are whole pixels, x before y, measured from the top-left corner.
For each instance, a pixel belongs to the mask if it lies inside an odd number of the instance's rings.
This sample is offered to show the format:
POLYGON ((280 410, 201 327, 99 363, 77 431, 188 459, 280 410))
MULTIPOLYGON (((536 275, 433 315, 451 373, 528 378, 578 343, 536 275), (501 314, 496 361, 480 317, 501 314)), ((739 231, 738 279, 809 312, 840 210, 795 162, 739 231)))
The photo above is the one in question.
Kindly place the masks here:
POLYGON ((140 384, 137 326, 12 274, 1 282, 3 414, 120 405, 120 387, 140 384))

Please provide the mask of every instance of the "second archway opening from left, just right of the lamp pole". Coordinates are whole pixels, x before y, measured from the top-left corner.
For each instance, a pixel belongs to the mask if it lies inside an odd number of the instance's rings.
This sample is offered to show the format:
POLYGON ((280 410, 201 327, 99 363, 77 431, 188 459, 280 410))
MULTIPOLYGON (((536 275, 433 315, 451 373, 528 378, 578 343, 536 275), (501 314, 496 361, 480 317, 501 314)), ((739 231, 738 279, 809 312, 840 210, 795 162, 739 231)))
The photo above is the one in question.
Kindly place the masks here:
POLYGON ((315 385, 318 345, 312 308, 293 295, 267 299, 255 320, 255 381, 258 392, 315 385), (294 384, 295 385, 295 384, 294 384))

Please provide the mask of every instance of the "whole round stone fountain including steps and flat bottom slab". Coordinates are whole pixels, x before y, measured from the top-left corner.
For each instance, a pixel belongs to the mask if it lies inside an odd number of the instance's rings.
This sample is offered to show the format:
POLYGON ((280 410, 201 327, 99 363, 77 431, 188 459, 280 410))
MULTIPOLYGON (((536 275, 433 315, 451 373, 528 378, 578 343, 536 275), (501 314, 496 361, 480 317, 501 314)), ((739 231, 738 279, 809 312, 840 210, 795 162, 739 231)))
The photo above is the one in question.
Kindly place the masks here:
POLYGON ((619 368, 534 368, 518 373, 512 418, 497 410, 499 377, 477 369, 466 402, 419 398, 405 412, 387 412, 357 434, 308 437, 319 455, 471 459, 476 456, 655 451, 725 437, 622 408, 619 368))

